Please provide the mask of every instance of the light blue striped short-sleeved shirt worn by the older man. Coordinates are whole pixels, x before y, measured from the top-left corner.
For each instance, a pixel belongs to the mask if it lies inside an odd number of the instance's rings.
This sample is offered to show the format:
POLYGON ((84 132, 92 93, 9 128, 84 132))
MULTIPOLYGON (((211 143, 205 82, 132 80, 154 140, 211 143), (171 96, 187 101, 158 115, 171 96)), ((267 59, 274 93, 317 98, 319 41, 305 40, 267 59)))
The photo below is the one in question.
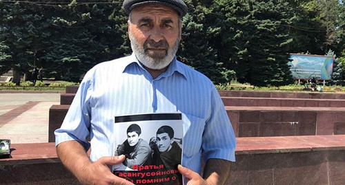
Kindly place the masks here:
POLYGON ((134 54, 90 69, 55 131, 56 144, 78 140, 86 149, 91 145, 90 160, 95 161, 113 155, 115 116, 169 112, 182 113, 184 166, 200 173, 201 153, 204 160, 235 161, 235 134, 213 83, 176 58, 153 80, 134 54))

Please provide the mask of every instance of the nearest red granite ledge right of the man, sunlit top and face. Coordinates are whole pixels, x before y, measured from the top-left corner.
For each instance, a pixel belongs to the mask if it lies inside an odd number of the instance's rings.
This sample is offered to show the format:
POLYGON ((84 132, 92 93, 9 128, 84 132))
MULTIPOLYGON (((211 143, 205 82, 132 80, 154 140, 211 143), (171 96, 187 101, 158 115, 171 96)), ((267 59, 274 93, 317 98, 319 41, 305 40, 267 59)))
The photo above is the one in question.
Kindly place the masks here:
POLYGON ((226 184, 344 184, 345 135, 237 138, 226 184))

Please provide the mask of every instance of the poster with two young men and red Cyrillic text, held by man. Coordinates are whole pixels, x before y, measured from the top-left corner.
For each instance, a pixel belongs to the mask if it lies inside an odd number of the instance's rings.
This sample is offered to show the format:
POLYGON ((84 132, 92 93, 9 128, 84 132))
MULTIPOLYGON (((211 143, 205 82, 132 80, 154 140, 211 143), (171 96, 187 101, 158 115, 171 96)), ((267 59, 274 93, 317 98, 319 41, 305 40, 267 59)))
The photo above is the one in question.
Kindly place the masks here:
POLYGON ((115 116, 114 155, 126 155, 112 173, 133 184, 183 184, 181 164, 184 136, 181 113, 115 116))

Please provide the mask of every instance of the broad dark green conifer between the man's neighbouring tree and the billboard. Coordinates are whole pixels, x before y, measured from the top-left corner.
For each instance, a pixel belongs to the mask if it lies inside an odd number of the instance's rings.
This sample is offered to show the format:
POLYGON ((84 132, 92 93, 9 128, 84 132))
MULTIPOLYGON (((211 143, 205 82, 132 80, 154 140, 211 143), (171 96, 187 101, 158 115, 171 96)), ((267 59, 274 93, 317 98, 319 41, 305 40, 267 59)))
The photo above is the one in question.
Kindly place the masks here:
POLYGON ((226 19, 218 21, 223 30, 215 47, 221 50, 225 66, 235 69, 239 82, 256 86, 291 83, 289 40, 282 26, 288 21, 288 6, 279 2, 217 1, 217 12, 226 19))

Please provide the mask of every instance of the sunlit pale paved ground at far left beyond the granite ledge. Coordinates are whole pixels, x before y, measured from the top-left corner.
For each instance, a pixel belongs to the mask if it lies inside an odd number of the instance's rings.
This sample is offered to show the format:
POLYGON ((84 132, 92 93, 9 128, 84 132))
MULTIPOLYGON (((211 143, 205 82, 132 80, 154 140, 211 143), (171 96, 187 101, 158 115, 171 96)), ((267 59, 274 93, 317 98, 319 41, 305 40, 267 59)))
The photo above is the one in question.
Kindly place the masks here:
POLYGON ((0 139, 48 142, 49 109, 59 104, 59 93, 0 92, 0 139))

